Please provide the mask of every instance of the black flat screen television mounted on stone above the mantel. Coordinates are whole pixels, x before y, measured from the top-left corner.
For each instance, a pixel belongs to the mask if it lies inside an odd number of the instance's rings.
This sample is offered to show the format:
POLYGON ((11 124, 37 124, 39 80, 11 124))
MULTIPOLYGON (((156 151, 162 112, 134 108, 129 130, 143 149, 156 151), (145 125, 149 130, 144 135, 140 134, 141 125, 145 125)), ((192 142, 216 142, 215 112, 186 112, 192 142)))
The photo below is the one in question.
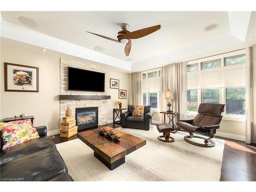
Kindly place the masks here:
POLYGON ((69 91, 105 91, 105 74, 68 67, 69 91))

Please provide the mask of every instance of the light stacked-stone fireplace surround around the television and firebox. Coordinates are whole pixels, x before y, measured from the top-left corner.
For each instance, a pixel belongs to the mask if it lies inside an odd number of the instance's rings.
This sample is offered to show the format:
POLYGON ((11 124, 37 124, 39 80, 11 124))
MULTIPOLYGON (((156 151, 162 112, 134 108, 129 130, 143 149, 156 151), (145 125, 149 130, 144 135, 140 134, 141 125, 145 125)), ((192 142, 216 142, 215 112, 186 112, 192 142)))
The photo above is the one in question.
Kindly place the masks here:
MULTIPOLYGON (((109 80, 107 70, 98 65, 82 63, 65 58, 60 59, 60 95, 108 95, 109 80), (105 73, 105 92, 68 91, 68 67, 105 73)), ((106 99, 99 100, 60 100, 60 122, 65 117, 67 106, 71 106, 72 115, 76 108, 98 106, 98 125, 108 123, 108 103, 106 99)))

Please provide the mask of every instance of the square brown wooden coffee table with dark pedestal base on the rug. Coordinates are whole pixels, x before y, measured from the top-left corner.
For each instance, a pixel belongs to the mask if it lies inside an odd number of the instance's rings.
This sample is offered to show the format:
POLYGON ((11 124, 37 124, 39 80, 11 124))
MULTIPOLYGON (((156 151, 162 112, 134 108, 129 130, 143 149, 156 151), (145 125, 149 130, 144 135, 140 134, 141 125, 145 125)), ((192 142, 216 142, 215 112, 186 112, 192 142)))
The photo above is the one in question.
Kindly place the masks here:
MULTIPOLYGON (((112 127, 106 127, 113 129, 112 127)), ((114 130, 120 138, 113 141, 110 137, 98 134, 98 130, 90 130, 77 134, 82 142, 86 143, 94 151, 94 156, 106 165, 110 170, 125 163, 125 156, 138 150, 146 144, 146 140, 140 137, 114 130)))

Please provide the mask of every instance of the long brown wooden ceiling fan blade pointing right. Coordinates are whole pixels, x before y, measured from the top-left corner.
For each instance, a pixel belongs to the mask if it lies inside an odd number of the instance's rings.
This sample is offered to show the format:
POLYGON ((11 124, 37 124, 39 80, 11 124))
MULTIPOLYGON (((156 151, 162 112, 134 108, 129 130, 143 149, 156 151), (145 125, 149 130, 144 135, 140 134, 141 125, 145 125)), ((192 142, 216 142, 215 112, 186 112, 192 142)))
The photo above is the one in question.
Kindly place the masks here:
POLYGON ((119 39, 137 39, 137 38, 141 38, 144 37, 146 35, 149 35, 151 33, 154 33, 155 31, 159 30, 161 28, 161 25, 156 25, 156 26, 152 26, 152 27, 148 27, 148 28, 144 28, 144 29, 140 29, 137 31, 133 31, 127 34, 122 35, 119 39))

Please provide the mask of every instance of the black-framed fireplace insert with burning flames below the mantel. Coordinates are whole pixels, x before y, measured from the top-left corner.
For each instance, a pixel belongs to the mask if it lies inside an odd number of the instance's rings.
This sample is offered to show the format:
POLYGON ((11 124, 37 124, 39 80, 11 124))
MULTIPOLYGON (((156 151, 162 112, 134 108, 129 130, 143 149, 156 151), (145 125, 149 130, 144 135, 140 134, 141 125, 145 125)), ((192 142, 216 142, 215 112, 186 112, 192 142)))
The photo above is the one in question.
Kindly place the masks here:
POLYGON ((78 130, 98 126, 98 107, 76 108, 78 130))

